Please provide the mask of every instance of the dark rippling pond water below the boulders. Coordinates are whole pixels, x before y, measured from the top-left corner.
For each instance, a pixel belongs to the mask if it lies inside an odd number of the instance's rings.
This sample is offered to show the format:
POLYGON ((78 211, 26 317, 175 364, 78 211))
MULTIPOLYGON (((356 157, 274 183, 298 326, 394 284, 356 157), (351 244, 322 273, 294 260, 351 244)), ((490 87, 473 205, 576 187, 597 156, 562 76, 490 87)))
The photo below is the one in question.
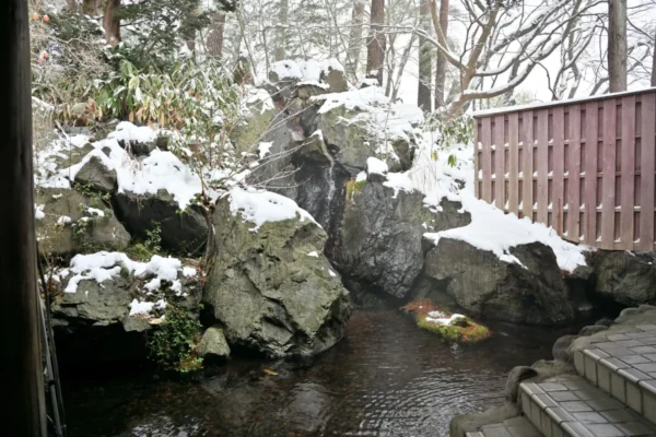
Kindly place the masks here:
POLYGON ((231 361, 187 382, 69 378, 70 436, 447 436, 455 413, 501 401, 507 371, 550 358, 566 333, 493 329, 449 347, 398 311, 355 311, 312 364, 231 361))

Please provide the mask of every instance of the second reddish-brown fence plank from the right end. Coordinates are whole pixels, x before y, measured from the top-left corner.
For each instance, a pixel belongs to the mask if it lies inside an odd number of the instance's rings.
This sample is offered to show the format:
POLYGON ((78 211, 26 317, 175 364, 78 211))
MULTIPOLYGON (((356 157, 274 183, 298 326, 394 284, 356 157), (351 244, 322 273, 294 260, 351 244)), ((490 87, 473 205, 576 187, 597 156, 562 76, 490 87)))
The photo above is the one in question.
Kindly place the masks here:
POLYGON ((633 246, 635 191, 635 96, 622 98, 620 244, 633 246))

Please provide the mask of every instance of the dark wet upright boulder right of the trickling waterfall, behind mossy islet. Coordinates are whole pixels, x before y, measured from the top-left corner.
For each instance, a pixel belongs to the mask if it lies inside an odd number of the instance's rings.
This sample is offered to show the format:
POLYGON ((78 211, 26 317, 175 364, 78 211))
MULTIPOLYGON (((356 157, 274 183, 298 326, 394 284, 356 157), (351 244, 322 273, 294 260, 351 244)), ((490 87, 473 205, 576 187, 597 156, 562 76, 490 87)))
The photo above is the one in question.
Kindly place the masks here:
POLYGON ((339 234, 328 255, 349 283, 405 299, 423 268, 423 234, 466 226, 470 216, 448 200, 442 211, 431 210, 423 193, 395 188, 386 178, 370 173, 366 180, 347 185, 339 234))

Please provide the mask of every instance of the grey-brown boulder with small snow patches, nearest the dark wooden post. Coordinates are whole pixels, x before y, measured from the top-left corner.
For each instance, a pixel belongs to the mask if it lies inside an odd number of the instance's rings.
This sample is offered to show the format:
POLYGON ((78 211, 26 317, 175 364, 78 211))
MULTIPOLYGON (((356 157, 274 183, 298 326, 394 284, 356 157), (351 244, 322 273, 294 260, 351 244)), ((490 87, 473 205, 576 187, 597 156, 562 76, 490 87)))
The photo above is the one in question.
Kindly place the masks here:
POLYGON ((35 204, 42 253, 120 250, 130 243, 130 234, 116 220, 105 197, 95 192, 38 188, 35 204))

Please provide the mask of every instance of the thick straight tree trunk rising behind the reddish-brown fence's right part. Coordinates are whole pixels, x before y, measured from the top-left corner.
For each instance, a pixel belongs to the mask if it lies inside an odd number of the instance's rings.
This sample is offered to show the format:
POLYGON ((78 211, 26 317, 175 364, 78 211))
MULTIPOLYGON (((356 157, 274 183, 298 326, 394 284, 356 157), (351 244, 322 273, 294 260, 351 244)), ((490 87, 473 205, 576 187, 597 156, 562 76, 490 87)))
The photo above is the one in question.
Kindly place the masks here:
POLYGON ((626 0, 608 0, 610 92, 626 91, 626 0))

